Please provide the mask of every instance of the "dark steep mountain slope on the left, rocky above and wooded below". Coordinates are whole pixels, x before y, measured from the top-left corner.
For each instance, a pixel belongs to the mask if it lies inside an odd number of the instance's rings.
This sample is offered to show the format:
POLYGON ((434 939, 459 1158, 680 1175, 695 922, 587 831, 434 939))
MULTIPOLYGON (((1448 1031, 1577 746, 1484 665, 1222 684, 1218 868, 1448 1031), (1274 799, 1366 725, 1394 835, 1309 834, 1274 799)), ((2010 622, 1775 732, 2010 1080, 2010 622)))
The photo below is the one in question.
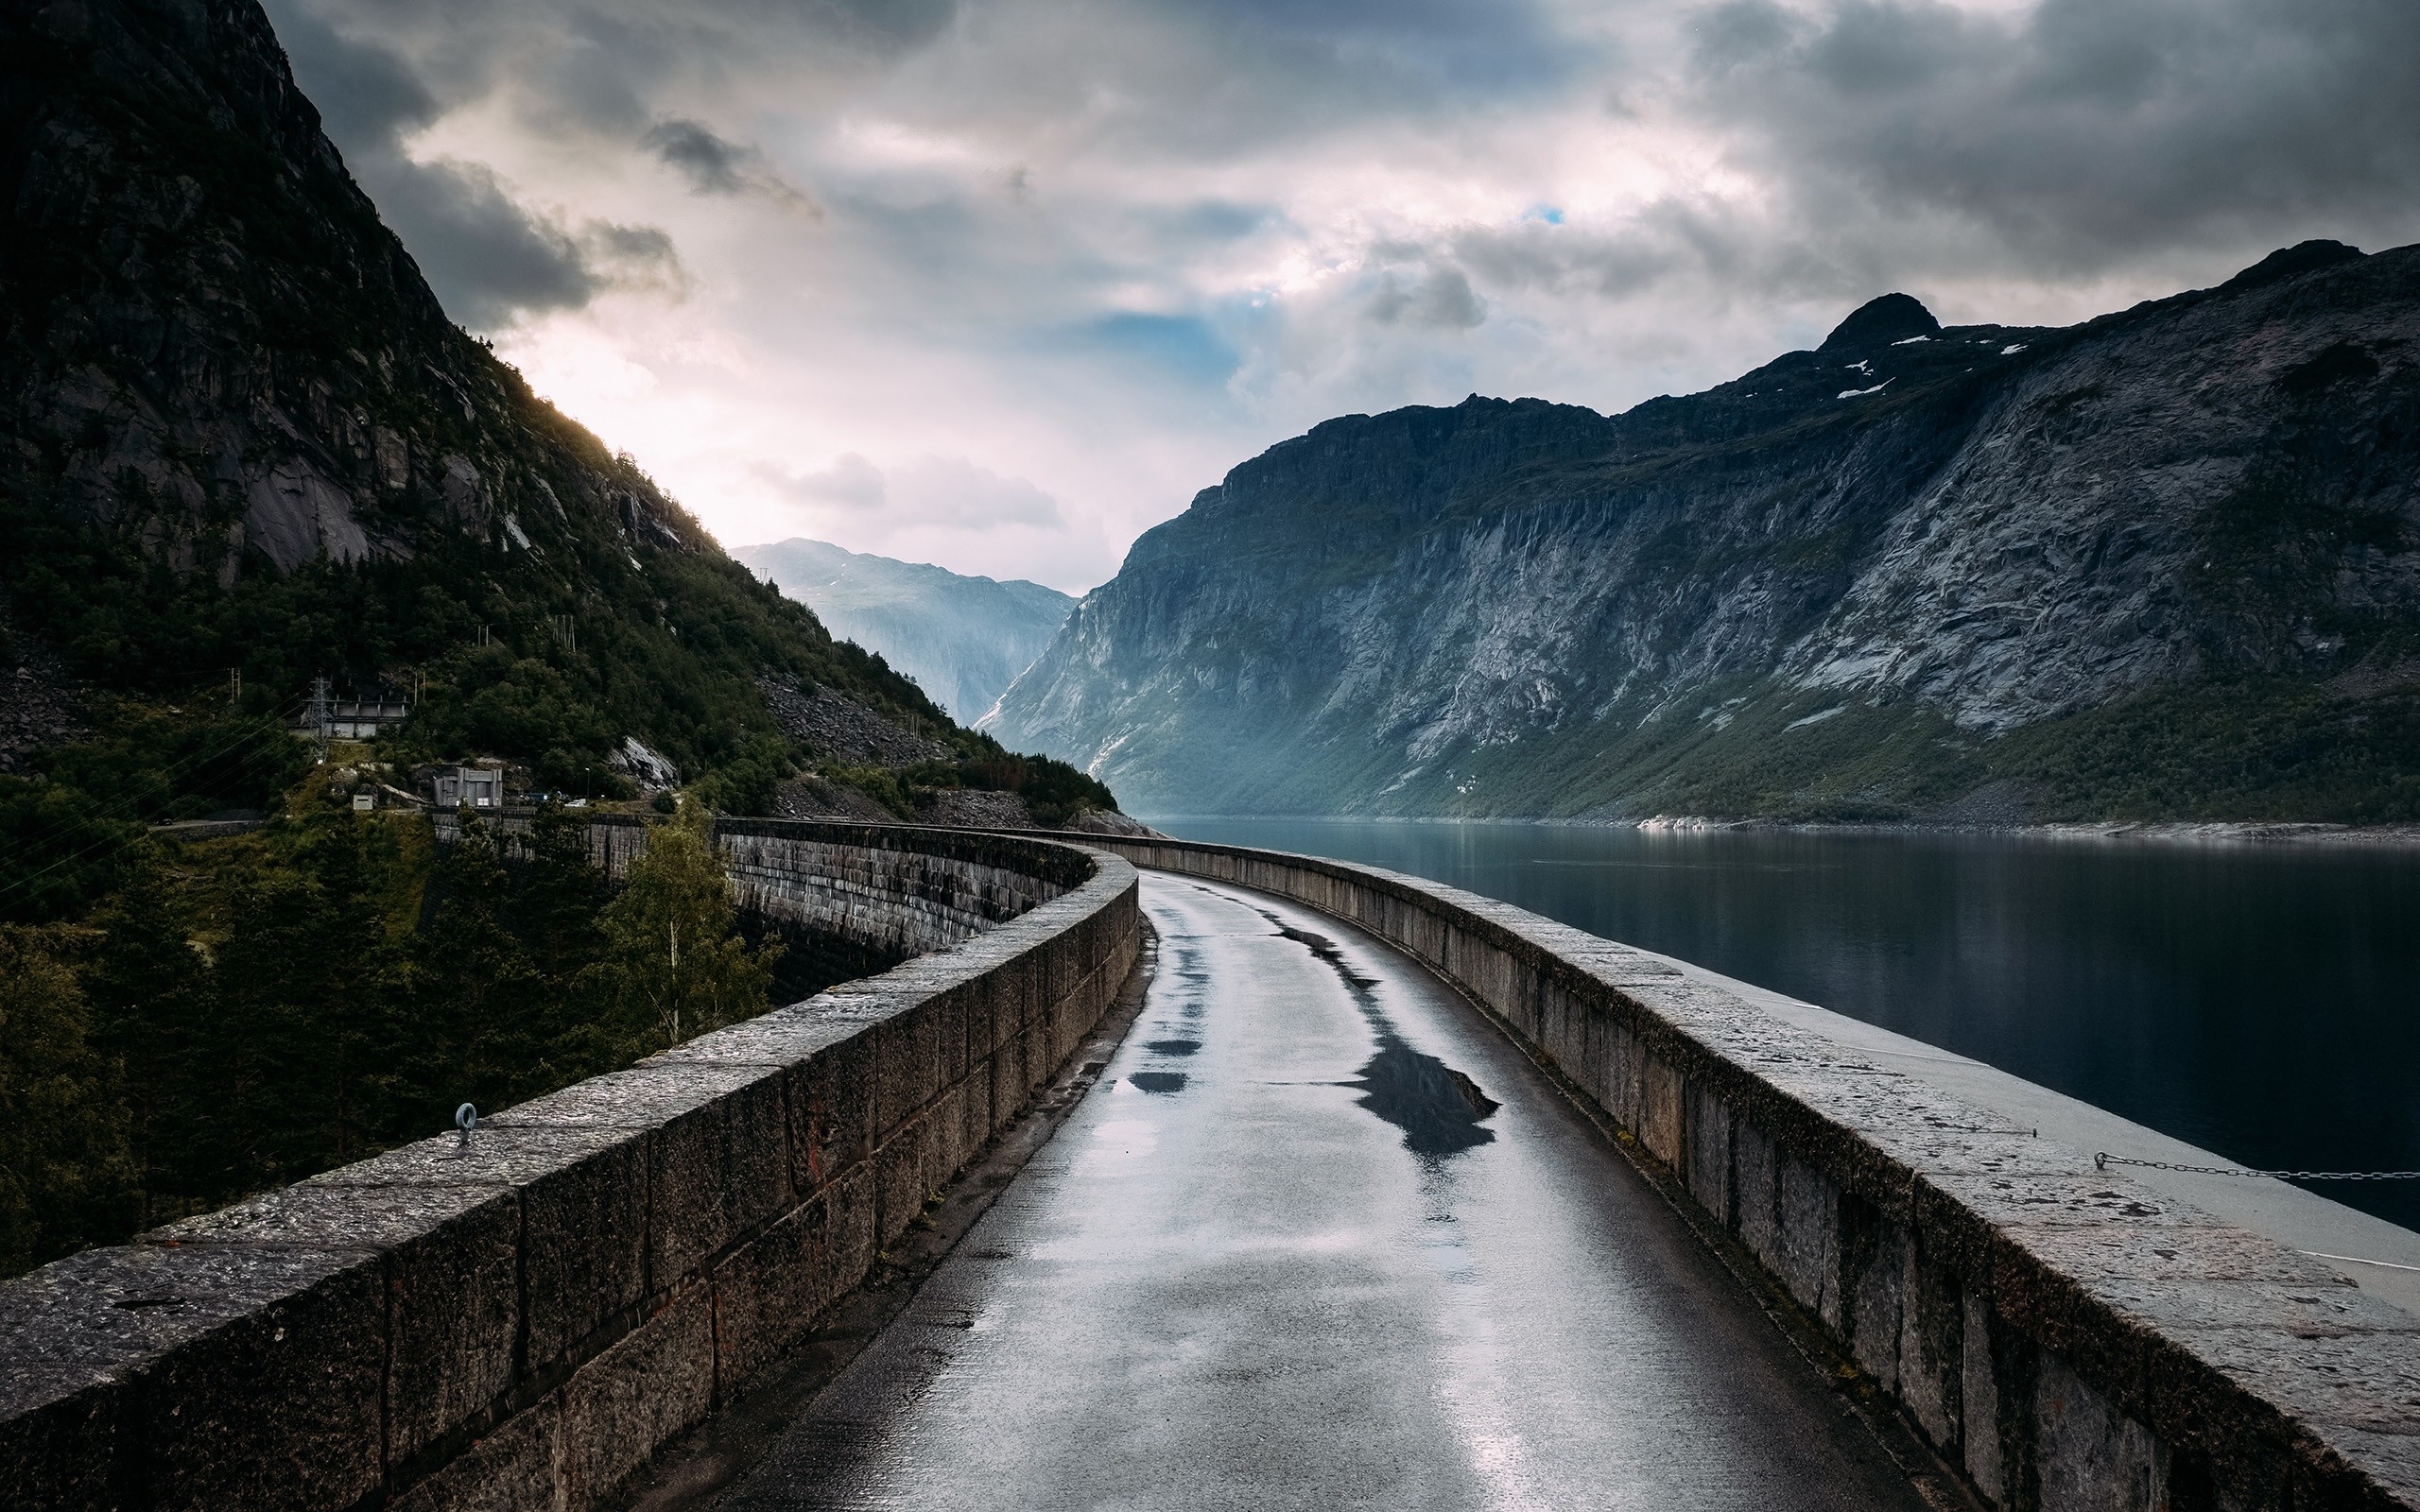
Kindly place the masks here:
POLYGON ((762 677, 946 723, 445 319, 254 0, 0 7, 0 206, 19 682, 424 689, 428 750, 588 789, 774 760, 762 677))

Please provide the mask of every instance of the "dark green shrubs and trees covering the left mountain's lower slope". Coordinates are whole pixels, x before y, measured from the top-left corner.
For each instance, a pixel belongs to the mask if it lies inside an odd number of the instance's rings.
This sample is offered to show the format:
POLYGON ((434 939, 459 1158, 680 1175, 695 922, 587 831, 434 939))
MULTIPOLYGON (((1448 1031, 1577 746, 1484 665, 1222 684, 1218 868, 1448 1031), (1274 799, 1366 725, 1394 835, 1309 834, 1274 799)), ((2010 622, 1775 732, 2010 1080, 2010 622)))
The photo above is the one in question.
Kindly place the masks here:
MULTIPOLYGON (((220 585, 160 569, 136 537, 0 498, 0 593, 19 636, 116 694, 186 704, 240 675, 244 714, 290 719, 315 675, 339 692, 419 689, 402 755, 511 757, 540 786, 588 796, 615 791, 605 757, 622 735, 690 777, 760 764, 762 740, 779 738, 755 685, 765 673, 946 728, 912 682, 711 547, 644 547, 641 573, 605 542, 557 544, 574 561, 438 537, 409 561, 257 564, 220 585), (576 566, 581 547, 595 571, 576 566)), ((140 743, 177 755, 179 740, 211 738, 174 723, 155 714, 140 743)))

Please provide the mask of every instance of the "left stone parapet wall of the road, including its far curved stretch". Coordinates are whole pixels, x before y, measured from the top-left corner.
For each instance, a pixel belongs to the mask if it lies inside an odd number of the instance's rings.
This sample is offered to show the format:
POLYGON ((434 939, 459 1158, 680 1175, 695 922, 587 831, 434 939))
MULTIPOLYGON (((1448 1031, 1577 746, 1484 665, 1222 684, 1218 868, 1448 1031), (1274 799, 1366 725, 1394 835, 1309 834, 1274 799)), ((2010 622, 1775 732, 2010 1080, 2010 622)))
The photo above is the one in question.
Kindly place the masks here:
MULTIPOLYGON (((639 839, 593 837, 624 864, 639 839)), ((1142 946, 1135 873, 1101 852, 721 842, 743 890, 941 948, 0 1285, 0 1507, 598 1507, 866 1275, 1142 946), (859 890, 818 893, 825 864, 859 890)))

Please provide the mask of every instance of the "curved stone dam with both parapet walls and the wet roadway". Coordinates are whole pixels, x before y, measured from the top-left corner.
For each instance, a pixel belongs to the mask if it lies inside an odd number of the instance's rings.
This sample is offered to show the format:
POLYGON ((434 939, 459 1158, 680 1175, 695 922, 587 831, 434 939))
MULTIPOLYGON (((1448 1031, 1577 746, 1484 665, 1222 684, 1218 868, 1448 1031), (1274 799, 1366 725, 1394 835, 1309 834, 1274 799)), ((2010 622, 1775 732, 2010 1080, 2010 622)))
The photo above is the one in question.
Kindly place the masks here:
POLYGON ((1041 1098, 687 1505, 2420 1505, 2410 1299, 1921 1048, 1377 868, 721 844, 905 960, 0 1287, 0 1500, 680 1505, 1041 1098))

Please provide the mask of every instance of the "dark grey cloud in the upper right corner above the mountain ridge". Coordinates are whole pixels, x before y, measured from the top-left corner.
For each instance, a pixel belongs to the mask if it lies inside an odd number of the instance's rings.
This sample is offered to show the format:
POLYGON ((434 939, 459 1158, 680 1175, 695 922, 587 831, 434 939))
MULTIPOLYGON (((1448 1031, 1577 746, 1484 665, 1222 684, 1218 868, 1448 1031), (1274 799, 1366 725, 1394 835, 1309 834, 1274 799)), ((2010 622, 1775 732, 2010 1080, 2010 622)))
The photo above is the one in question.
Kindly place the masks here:
POLYGON ((1745 131, 1805 223, 1946 213, 2035 273, 2410 232, 2420 5, 1931 0, 1699 15, 1694 111, 1745 131))

